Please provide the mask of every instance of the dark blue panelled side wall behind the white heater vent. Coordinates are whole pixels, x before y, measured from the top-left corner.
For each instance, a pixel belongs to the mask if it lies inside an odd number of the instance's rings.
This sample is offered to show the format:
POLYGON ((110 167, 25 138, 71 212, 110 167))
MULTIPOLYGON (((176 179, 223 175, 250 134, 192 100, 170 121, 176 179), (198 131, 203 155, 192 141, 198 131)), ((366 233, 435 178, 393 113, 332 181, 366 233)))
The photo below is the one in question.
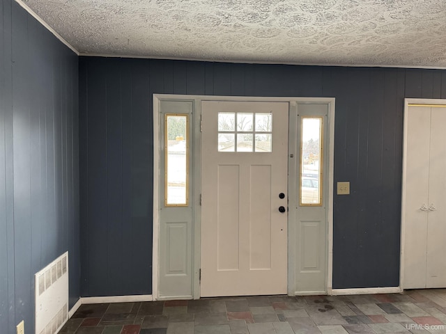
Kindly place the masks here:
POLYGON ((0 3, 0 332, 34 332, 34 273, 70 255, 80 296, 78 57, 0 3))

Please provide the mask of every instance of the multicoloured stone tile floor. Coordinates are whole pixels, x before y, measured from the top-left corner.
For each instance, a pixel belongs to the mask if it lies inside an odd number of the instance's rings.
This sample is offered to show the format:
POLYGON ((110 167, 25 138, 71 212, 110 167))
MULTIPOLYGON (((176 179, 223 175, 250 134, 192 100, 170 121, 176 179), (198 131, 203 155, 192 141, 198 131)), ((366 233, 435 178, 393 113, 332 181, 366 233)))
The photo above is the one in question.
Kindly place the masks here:
POLYGON ((446 333, 446 289, 82 305, 59 333, 446 333))

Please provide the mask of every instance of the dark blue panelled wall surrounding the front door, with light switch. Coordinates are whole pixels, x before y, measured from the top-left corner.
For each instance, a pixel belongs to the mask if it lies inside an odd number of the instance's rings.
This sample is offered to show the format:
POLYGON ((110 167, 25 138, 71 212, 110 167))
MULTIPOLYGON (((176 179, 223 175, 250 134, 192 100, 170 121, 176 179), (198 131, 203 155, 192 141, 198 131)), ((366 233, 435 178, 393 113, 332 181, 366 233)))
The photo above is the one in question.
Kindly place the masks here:
POLYGON ((335 97, 334 288, 399 285, 404 97, 446 71, 86 58, 80 63, 82 296, 151 294, 153 93, 335 97))

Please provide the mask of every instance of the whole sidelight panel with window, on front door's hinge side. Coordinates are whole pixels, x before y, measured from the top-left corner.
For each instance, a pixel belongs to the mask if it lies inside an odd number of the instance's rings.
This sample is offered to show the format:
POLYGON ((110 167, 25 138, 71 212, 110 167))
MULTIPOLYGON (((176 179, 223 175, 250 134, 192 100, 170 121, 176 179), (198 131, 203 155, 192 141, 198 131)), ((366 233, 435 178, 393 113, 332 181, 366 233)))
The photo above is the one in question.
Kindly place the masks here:
POLYGON ((190 101, 160 102, 159 296, 162 299, 192 296, 193 215, 189 200, 192 187, 188 184, 192 170, 189 145, 192 109, 190 101), (172 120, 176 127, 171 127, 172 120), (173 129, 178 132, 169 134, 173 129))

